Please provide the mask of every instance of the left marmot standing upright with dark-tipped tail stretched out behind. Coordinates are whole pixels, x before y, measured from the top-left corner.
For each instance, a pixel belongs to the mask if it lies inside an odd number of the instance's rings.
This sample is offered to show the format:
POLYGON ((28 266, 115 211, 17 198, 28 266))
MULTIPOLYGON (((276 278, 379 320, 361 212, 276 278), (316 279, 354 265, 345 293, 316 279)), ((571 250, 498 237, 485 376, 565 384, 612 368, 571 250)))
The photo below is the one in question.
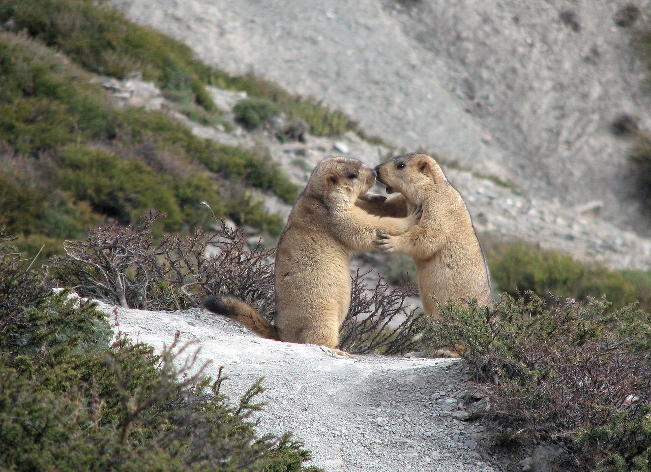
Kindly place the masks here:
POLYGON ((348 157, 321 161, 298 197, 275 256, 275 326, 234 296, 211 296, 204 307, 258 335, 336 349, 350 304, 350 256, 375 248, 378 233, 399 235, 419 218, 370 215, 355 202, 374 200, 367 190, 375 171, 348 157))

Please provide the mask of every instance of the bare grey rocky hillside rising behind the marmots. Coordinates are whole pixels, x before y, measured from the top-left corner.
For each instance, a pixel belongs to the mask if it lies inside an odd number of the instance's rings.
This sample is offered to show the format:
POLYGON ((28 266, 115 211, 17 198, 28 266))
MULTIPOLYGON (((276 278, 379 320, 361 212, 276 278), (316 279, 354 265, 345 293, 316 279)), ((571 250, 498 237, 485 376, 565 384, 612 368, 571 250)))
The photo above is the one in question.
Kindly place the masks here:
MULTIPOLYGON (((648 222, 631 196, 631 144, 610 131, 620 112, 651 127, 647 71, 630 29, 613 20, 616 2, 113 3, 210 64, 321 99, 398 149, 437 153, 480 231, 651 267, 651 243, 639 236, 648 222)), ((309 164, 332 153, 378 158, 347 138, 339 150, 272 148, 277 159, 314 157, 309 164)))

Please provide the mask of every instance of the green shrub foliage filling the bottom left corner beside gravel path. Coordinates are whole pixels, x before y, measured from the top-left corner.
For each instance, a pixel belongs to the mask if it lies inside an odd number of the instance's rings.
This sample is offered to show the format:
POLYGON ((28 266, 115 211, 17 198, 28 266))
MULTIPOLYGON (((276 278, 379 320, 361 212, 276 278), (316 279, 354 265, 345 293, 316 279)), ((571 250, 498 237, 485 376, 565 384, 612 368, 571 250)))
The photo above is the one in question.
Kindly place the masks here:
MULTIPOLYGON (((3 240, 7 238, 3 236, 3 240)), ((161 354, 0 244, 0 469, 318 472, 288 434, 256 435, 260 381, 234 404, 178 337, 161 354)))

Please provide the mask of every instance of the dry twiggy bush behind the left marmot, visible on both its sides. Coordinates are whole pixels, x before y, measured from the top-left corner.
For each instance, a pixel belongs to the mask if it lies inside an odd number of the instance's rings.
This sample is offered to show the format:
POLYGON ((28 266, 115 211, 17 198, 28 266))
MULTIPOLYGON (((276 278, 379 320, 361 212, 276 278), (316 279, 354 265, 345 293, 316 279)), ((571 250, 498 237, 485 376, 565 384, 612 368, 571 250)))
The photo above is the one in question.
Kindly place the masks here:
MULTIPOLYGON (((155 243, 152 225, 161 216, 150 212, 135 226, 93 229, 87 241, 66 241, 66 256, 52 259, 53 274, 81 296, 123 308, 187 309, 208 295, 229 293, 273 321, 273 249, 260 241, 249 247, 243 231, 230 229, 224 220, 214 235, 197 229, 155 243)), ((390 287, 383 278, 368 287, 365 275, 358 271, 353 277, 340 348, 384 354, 413 350, 422 326, 421 315, 406 302, 414 288, 390 287)))

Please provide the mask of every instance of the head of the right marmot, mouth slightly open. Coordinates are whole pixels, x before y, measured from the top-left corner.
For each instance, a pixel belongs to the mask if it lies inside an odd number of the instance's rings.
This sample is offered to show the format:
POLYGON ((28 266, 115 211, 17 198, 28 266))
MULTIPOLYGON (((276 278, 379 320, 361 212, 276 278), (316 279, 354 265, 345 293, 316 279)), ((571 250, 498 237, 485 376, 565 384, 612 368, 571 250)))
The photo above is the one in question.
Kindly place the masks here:
POLYGON ((387 192, 400 192, 417 202, 426 187, 447 184, 447 178, 434 159, 426 154, 411 153, 392 157, 375 168, 378 181, 387 192))

